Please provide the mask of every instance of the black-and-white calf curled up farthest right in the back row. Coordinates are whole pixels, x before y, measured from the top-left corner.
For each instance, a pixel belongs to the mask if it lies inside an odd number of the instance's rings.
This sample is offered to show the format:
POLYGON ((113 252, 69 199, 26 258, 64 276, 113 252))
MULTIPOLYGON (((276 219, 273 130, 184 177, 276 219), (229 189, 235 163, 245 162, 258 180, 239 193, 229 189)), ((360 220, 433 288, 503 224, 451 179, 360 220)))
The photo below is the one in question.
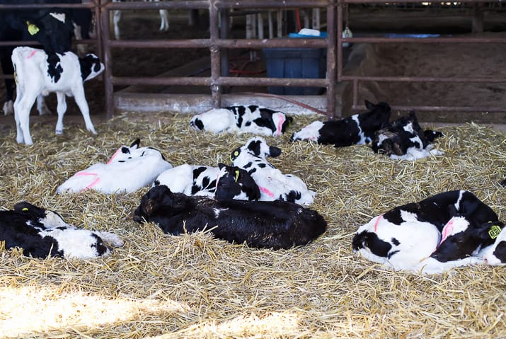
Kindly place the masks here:
POLYGON ((408 117, 399 117, 377 131, 371 146, 374 153, 385 154, 391 159, 416 160, 443 154, 433 149, 432 144, 442 136, 442 132, 422 130, 415 112, 411 111, 408 117))

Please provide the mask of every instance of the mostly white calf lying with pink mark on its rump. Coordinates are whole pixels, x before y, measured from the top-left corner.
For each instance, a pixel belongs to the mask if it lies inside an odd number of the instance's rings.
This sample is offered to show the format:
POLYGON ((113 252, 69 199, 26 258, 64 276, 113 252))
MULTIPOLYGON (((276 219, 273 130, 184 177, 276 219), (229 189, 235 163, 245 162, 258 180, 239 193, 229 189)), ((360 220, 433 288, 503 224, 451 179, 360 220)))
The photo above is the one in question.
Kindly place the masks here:
POLYGON ((140 139, 121 146, 107 163, 96 163, 67 179, 56 193, 98 190, 102 193, 131 193, 151 185, 171 163, 152 147, 139 147, 140 139))

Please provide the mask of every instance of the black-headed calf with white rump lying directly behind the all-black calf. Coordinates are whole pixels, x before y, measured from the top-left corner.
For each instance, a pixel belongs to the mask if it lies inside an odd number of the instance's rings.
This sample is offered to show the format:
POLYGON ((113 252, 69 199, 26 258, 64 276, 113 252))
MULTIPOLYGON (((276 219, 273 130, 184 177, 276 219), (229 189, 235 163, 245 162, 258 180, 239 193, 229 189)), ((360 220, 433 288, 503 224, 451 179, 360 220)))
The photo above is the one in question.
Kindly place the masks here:
POLYGON ((154 185, 166 185, 173 193, 216 196, 219 199, 259 200, 255 180, 242 168, 184 165, 163 171, 154 185))

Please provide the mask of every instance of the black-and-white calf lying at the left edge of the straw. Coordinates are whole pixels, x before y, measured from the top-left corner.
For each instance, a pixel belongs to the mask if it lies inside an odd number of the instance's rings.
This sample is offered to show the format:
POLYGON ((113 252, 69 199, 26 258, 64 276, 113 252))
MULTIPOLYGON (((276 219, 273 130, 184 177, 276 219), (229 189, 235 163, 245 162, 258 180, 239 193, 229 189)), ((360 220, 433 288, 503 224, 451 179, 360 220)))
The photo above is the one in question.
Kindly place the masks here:
POLYGON ((62 257, 89 259, 108 256, 111 246, 123 246, 120 237, 109 232, 88 231, 67 224, 48 209, 20 202, 13 210, 0 211, 0 241, 6 248, 23 248, 34 258, 62 257))

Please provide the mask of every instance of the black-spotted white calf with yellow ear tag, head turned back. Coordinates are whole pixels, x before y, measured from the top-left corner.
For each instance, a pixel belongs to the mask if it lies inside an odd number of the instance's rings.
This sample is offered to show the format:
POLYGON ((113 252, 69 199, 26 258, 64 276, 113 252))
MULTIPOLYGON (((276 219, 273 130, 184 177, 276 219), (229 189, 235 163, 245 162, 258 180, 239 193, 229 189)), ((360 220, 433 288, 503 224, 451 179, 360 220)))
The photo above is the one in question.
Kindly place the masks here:
POLYGON ((260 200, 285 200, 301 205, 311 205, 316 193, 307 188, 301 178, 292 174, 283 174, 265 158, 280 156, 281 149, 269 146, 262 137, 248 139, 231 153, 234 166, 243 168, 257 183, 260 200))

